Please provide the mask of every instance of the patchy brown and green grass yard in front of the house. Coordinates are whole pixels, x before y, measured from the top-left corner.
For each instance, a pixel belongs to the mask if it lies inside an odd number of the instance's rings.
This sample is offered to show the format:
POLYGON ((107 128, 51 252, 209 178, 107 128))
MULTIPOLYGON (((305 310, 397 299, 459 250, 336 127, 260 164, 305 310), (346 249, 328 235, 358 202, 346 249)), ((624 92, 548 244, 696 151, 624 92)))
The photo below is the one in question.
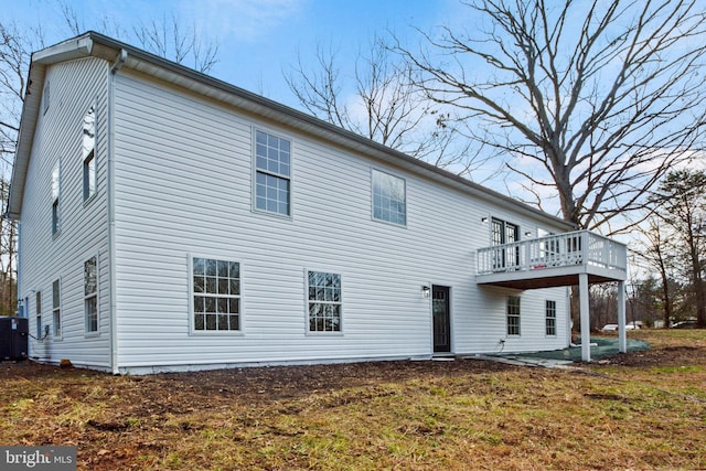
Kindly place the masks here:
POLYGON ((111 376, 0 371, 0 443, 85 470, 706 469, 706 331, 571 370, 478 360, 111 376))

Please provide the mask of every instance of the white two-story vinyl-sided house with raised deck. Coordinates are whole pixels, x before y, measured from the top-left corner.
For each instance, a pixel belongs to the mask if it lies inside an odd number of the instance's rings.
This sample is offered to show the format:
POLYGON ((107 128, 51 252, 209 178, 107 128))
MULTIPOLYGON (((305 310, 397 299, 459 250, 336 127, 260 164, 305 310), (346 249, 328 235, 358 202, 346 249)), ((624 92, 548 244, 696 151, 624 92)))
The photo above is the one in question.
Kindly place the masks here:
POLYGON ((620 244, 97 33, 28 84, 8 214, 41 362, 554 350, 567 286, 624 280, 620 244))

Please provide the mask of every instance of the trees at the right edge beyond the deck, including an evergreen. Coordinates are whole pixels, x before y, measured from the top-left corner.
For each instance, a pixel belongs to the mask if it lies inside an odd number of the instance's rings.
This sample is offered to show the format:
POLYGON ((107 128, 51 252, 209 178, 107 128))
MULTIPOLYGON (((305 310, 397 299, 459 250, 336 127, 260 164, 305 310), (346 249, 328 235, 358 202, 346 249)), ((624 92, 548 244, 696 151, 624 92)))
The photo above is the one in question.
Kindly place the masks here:
MULTIPOLYGON (((706 327, 706 171, 671 171, 650 202, 633 251, 633 263, 646 275, 628 285, 627 320, 646 327, 695 320, 706 327)), ((591 327, 614 323, 617 286, 591 290, 591 327)))

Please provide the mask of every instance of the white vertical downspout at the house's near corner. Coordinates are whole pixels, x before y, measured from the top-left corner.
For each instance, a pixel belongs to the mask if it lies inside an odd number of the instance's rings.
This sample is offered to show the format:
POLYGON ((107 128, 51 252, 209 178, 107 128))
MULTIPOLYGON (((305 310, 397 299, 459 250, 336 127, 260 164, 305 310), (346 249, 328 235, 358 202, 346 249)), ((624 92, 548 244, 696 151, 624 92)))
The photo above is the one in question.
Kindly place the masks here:
POLYGON ((110 370, 114 375, 120 374, 118 363, 118 319, 117 319, 117 280, 115 248, 115 74, 120 71, 128 52, 124 49, 110 67, 108 74, 108 118, 107 118, 107 169, 106 169, 106 204, 108 214, 108 271, 110 277, 110 370))

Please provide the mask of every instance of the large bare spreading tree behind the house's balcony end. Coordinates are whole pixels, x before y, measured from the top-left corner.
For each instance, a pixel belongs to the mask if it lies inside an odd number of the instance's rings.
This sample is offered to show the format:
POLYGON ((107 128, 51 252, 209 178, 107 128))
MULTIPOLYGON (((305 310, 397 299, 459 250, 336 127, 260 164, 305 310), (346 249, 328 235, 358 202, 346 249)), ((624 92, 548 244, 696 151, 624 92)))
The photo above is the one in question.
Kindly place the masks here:
POLYGON ((703 143, 706 13, 695 1, 468 7, 484 28, 442 28, 425 34, 426 51, 397 50, 429 98, 509 156, 533 203, 553 193, 564 218, 612 233, 703 143))

